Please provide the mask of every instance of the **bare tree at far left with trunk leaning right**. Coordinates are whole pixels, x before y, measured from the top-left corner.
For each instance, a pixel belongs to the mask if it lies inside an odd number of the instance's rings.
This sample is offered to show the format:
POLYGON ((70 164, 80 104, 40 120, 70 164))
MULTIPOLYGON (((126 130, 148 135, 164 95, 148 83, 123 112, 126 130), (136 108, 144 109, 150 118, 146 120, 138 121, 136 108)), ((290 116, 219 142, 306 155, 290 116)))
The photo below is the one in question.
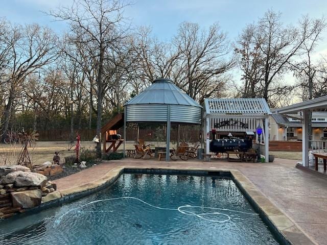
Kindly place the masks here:
POLYGON ((27 76, 41 67, 52 63, 58 55, 57 36, 48 27, 38 24, 26 26, 8 26, 12 58, 8 62, 8 101, 4 110, 3 137, 6 137, 9 121, 14 108, 15 95, 27 76))

